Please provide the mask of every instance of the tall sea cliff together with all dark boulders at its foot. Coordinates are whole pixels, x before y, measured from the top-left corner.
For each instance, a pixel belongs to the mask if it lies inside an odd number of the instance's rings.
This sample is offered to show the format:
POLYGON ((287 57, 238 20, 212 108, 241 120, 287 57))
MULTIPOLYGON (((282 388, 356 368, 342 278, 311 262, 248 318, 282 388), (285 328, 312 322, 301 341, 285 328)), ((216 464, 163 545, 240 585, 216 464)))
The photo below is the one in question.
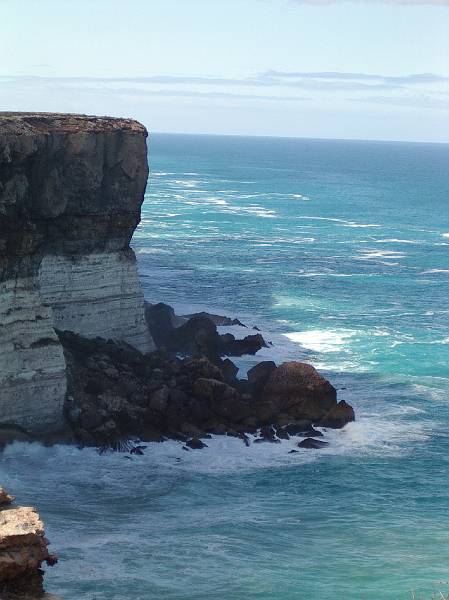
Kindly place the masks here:
POLYGON ((259 429, 277 442, 353 420, 311 365, 264 361, 239 379, 229 357, 269 347, 257 328, 237 339, 218 327, 238 319, 144 304, 129 242, 146 138, 129 119, 0 113, 0 446, 259 429))

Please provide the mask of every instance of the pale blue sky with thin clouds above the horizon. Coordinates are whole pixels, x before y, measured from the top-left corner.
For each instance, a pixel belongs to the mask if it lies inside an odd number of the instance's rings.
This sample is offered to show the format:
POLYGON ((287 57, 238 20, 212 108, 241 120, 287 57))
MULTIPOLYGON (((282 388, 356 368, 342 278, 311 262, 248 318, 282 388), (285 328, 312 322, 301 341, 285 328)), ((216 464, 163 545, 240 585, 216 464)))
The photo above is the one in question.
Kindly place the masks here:
POLYGON ((449 0, 0 0, 0 110, 449 142, 449 0))

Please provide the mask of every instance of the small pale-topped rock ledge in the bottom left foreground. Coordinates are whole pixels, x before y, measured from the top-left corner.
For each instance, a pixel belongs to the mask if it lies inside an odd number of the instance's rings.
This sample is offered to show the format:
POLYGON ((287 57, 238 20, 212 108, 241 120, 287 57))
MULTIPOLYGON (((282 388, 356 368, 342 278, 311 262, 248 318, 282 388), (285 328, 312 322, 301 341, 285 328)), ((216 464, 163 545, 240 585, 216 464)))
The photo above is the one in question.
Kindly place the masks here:
POLYGON ((40 598, 43 563, 54 565, 44 525, 34 508, 14 507, 14 498, 0 487, 0 597, 40 598))

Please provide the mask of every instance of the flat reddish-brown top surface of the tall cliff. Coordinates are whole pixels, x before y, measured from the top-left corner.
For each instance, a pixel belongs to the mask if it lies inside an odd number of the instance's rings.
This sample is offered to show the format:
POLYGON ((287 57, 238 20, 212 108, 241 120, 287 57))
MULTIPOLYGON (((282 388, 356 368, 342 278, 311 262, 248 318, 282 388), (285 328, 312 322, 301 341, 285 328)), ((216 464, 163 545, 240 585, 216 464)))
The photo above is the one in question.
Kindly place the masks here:
POLYGON ((0 134, 96 133, 116 130, 147 132, 141 123, 133 119, 64 113, 0 112, 0 134))

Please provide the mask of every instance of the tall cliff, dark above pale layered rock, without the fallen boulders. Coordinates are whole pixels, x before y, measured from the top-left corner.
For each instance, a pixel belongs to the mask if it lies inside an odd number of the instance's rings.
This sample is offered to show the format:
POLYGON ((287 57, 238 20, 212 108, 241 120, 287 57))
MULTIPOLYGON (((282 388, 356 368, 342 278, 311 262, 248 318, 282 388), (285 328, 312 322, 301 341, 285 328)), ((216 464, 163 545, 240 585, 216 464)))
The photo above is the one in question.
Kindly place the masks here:
POLYGON ((0 113, 0 423, 60 426, 55 328, 153 349, 129 247, 146 136, 126 119, 0 113))

